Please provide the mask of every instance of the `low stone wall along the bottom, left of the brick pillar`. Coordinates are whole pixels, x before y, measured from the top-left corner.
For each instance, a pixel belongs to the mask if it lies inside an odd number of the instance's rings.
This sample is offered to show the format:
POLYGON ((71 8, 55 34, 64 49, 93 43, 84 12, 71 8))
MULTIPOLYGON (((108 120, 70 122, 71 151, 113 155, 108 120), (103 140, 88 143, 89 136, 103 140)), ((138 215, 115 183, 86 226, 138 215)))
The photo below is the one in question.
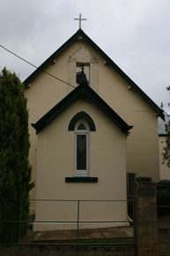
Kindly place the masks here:
POLYGON ((48 245, 0 247, 1 256, 136 256, 127 245, 48 245))

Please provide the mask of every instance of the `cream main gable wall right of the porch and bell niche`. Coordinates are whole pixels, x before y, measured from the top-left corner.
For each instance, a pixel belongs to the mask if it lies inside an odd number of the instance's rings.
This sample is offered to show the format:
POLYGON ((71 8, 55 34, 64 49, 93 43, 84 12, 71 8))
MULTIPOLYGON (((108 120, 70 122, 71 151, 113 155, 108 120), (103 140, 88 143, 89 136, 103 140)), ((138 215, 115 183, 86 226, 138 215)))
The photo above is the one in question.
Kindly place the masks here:
POLYGON ((100 97, 133 126, 127 140, 127 172, 150 176, 154 182, 158 181, 158 117, 110 67, 101 63, 100 70, 100 97))

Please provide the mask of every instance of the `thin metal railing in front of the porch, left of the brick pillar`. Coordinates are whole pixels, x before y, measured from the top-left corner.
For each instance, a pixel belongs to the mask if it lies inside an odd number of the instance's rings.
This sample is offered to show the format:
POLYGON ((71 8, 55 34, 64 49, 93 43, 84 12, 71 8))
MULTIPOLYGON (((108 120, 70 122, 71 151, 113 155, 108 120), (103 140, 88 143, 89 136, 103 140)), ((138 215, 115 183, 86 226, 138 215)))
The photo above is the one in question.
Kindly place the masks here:
MULTIPOLYGON (((132 207, 131 207, 131 212, 132 212, 132 215, 135 216, 135 206, 134 206, 134 201, 133 199, 128 199, 128 200, 80 200, 80 199, 75 199, 75 200, 63 200, 63 199, 30 199, 30 203, 35 203, 35 206, 36 207, 40 207, 41 209, 41 204, 46 204, 46 206, 48 207, 48 204, 54 204, 56 206, 56 204, 58 203, 62 203, 62 204, 72 204, 74 205, 74 213, 76 213, 75 215, 75 218, 73 220, 61 220, 61 218, 57 219, 46 219, 45 217, 42 218, 42 219, 37 219, 36 216, 35 216, 35 220, 33 221, 28 221, 28 220, 23 220, 22 218, 22 211, 23 211, 23 205, 24 205, 24 199, 18 199, 18 200, 13 200, 13 201, 16 201, 18 202, 19 201, 19 211, 18 211, 18 220, 12 220, 12 219, 8 219, 8 220, 3 220, 3 223, 5 224, 8 224, 8 228, 11 226, 11 229, 12 229, 12 224, 17 224, 18 225, 18 241, 15 243, 15 244, 22 244, 22 239, 20 239, 21 237, 21 229, 22 229, 22 224, 23 223, 27 223, 29 226, 31 225, 36 225, 36 224, 64 224, 65 225, 65 228, 64 230, 68 230, 67 229, 67 224, 75 224, 75 227, 76 229, 72 229, 72 234, 74 234, 74 236, 72 236, 71 239, 63 239, 63 240, 57 240, 57 244, 63 244, 63 243, 104 243, 104 244, 115 244, 115 243, 120 243, 120 244, 123 244, 123 243, 129 243, 129 244, 134 244, 135 243, 135 218, 133 218, 134 220, 118 220, 117 218, 116 219, 100 219, 99 218, 96 218, 96 220, 94 219, 94 215, 93 214, 93 218, 92 219, 88 219, 88 220, 85 220, 81 217, 81 214, 83 213, 83 211, 86 211, 87 208, 85 208, 85 204, 86 205, 93 205, 93 211, 95 210, 95 204, 100 204, 100 205, 103 205, 102 208, 103 208, 103 213, 105 213, 106 209, 105 208, 109 208, 109 206, 106 207, 105 204, 118 204, 119 206, 123 206, 123 209, 127 209, 127 205, 130 204, 132 207), (75 208, 76 207, 76 208, 75 208), (84 208, 82 210, 82 208, 84 208), (132 229, 131 230, 131 234, 132 236, 131 237, 112 237, 112 234, 107 237, 106 235, 103 235, 103 237, 94 237, 89 235, 89 237, 84 237, 82 234, 84 234, 85 232, 85 225, 90 225, 91 227, 91 232, 92 230, 96 232, 96 229, 98 229, 97 227, 99 226, 100 228, 100 231, 101 229, 107 229, 107 232, 106 233, 109 233, 110 229, 109 228, 113 228, 113 232, 114 232, 114 228, 115 227, 123 227, 125 228, 125 226, 131 226, 129 229, 132 229), (101 225, 102 224, 102 225, 101 225), (106 224, 106 225, 105 225, 106 224), (83 225, 83 229, 81 229, 81 226, 83 225), (92 225, 96 226, 96 228, 93 228, 92 225), (105 227, 106 226, 106 227, 105 227), (85 240, 85 241, 84 241, 85 240), (95 241, 94 241, 95 240, 95 241)), ((10 203, 10 202, 9 202, 10 203)), ((72 206, 71 206, 72 207, 72 206)), ((115 206, 116 207, 116 206, 115 206)), ((42 207, 43 208, 43 207, 42 207)), ((57 213, 57 208, 55 208, 56 210, 56 213, 57 213)), ((113 210, 113 209, 112 209, 113 210)), ((126 210, 125 210, 126 211, 126 210)), ((95 213, 95 211, 94 211, 95 213)), ((69 214, 69 213, 68 213, 69 214)), ((57 215, 57 214, 56 214, 57 215)), ((100 214, 102 216, 102 214, 100 214)), ((107 213, 107 215, 111 215, 111 213, 107 213)), ((44 215, 45 216, 45 215, 44 215)), ((97 217, 97 216, 96 216, 97 217)), ((127 216, 128 217, 128 216, 127 216)), ((56 228, 57 229, 57 228, 56 228)), ((125 228, 127 229, 127 227, 125 228)), ((54 230, 53 230, 54 231, 54 230)), ((117 231, 115 231, 117 232, 117 231)), ((124 232, 125 234, 126 232, 124 232)), ((104 232, 103 232, 104 234, 104 232)), ((55 241, 56 242, 56 241, 55 241)), ((32 241, 32 242, 27 242, 28 244, 30 243, 36 243, 36 241, 32 241)), ((54 242, 52 242, 54 244, 54 242)), ((40 244, 40 241, 39 241, 39 244, 40 244)))

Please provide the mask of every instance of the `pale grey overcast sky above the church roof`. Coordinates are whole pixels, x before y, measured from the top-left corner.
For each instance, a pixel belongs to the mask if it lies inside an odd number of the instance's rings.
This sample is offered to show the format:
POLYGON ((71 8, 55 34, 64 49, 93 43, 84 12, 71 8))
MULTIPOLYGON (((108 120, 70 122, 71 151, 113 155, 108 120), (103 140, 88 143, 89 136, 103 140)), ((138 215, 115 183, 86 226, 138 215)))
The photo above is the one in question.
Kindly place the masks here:
MULTIPOLYGON (((170 101, 170 0, 0 0, 0 44, 35 66, 82 29, 167 112, 170 101)), ((0 47, 0 69, 21 81, 34 71, 0 47)))

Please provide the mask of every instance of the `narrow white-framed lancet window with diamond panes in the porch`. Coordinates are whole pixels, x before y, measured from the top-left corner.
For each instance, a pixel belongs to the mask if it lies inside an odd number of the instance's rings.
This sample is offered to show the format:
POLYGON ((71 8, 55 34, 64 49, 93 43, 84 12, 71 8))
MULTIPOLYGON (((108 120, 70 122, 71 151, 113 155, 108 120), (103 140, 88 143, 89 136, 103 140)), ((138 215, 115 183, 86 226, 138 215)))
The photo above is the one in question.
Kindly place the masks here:
POLYGON ((89 175, 89 131, 85 120, 78 120, 75 125, 75 175, 89 175))

